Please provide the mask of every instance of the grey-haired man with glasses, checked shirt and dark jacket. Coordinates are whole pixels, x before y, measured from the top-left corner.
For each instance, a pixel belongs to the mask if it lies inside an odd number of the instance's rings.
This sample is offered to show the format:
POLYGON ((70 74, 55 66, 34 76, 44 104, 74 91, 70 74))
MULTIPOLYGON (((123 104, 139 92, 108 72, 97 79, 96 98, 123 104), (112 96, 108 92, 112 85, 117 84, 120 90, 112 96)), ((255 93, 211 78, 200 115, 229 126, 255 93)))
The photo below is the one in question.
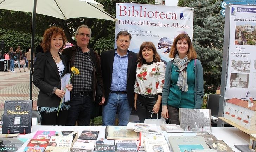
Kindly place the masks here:
MULTIPOLYGON (((68 114, 69 126, 89 126, 91 115, 94 109, 96 96, 96 84, 104 94, 100 57, 92 49, 88 48, 91 37, 91 29, 87 25, 81 25, 76 30, 77 44, 63 50, 62 55, 68 58, 69 70, 75 66, 79 70, 78 75, 73 75, 71 83, 73 90, 71 106, 68 114), (93 54, 92 54, 93 53, 93 54)), ((99 105, 103 105, 105 98, 99 105)))

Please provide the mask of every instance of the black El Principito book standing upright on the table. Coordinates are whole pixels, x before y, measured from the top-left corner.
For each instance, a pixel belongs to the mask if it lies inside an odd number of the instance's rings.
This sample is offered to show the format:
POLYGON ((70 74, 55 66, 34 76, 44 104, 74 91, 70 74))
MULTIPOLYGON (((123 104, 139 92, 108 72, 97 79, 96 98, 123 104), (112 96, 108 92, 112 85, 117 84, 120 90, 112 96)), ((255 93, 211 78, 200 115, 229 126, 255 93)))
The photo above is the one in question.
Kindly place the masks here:
POLYGON ((31 133, 32 100, 5 101, 2 133, 31 133))

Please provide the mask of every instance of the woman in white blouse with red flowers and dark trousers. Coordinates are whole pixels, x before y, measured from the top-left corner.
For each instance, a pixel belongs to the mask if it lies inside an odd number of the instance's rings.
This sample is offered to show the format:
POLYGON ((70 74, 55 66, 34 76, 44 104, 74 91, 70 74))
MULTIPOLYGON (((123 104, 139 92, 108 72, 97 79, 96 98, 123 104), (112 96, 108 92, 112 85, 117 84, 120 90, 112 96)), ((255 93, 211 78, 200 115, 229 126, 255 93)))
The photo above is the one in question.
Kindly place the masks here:
POLYGON ((165 64, 152 42, 143 42, 138 53, 136 81, 134 85, 134 108, 141 123, 144 119, 161 117, 162 90, 165 64), (155 114, 152 114, 155 113, 155 114))

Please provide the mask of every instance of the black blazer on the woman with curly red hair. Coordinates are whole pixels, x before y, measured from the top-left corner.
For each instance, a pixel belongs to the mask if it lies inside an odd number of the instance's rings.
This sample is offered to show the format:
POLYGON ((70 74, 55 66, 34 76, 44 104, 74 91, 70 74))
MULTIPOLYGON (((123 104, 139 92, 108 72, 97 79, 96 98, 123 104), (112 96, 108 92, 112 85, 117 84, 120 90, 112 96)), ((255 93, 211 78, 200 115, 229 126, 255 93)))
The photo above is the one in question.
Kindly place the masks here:
MULTIPOLYGON (((66 57, 59 53, 65 68, 62 76, 68 70, 66 66, 66 57)), ((34 66, 33 83, 40 89, 37 106, 39 107, 58 107, 61 98, 53 93, 54 87, 60 89, 61 81, 59 77, 58 67, 52 58, 50 51, 45 53, 37 53, 37 61, 34 66)))

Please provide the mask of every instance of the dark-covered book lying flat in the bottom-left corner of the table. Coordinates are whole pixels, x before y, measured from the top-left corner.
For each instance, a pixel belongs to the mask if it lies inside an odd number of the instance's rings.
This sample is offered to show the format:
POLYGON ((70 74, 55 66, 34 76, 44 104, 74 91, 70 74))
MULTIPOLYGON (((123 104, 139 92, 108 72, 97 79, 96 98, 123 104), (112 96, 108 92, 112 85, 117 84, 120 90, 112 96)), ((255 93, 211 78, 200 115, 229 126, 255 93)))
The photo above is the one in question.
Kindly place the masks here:
POLYGON ((1 152, 15 152, 17 151, 28 138, 0 138, 1 152))

